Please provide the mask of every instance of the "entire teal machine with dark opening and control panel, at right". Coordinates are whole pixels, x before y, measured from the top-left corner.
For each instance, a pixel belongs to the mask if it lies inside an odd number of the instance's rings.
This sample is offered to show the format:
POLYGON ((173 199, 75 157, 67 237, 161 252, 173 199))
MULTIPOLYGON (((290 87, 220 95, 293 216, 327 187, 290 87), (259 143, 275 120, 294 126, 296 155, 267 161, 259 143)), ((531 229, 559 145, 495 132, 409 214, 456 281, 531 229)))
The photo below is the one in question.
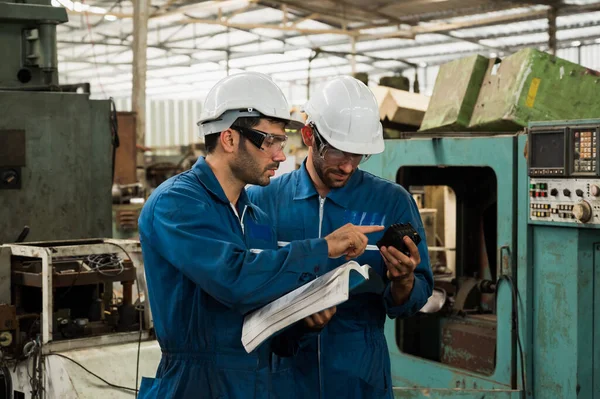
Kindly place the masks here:
POLYGON ((599 136, 600 120, 407 133, 365 164, 456 195, 441 303, 386 322, 395 397, 600 398, 599 136))

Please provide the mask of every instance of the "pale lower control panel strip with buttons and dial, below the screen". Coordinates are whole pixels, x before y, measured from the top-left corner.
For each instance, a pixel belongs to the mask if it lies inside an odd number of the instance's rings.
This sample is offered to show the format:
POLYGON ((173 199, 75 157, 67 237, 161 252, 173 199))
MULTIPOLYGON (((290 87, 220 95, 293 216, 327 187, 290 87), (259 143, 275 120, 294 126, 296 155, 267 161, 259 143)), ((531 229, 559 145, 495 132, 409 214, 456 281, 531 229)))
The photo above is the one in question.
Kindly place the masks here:
POLYGON ((530 219, 600 225, 600 179, 529 180, 530 219))

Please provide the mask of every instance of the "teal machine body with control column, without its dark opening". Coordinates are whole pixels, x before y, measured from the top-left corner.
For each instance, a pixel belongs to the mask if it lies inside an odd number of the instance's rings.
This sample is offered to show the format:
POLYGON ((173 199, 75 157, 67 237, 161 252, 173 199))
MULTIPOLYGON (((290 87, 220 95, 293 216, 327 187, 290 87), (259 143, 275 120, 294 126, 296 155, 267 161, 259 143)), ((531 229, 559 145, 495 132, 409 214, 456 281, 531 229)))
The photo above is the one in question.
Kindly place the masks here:
MULTIPOLYGON (((600 397, 600 173, 593 163, 600 162, 599 126, 600 120, 579 120, 531 123, 512 135, 406 133, 404 140, 388 140, 386 151, 364 165, 392 181, 402 166, 490 167, 497 178, 496 265, 497 276, 506 277, 496 292, 495 371, 484 376, 403 353, 396 323, 387 320, 395 397, 600 397), (528 143, 528 135, 549 129, 586 129, 596 132, 596 141, 575 146, 573 136, 565 140, 564 169, 531 173, 528 156, 536 144, 528 143), (575 152, 583 147, 579 157, 575 152), (581 173, 575 165, 586 169, 581 173), (565 203, 580 212, 571 215, 573 208, 565 209, 565 203)), ((458 263, 457 253, 457 270, 458 263)))

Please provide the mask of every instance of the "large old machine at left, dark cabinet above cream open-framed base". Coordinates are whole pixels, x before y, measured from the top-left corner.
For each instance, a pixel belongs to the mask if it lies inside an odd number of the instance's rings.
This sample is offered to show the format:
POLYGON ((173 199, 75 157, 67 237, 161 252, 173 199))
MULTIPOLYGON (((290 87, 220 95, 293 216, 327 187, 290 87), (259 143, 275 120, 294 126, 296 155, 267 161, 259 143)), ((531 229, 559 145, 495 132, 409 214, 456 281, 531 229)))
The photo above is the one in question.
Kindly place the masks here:
POLYGON ((59 84, 66 21, 49 0, 0 0, 1 398, 128 398, 160 359, 139 242, 97 238, 115 112, 59 84))

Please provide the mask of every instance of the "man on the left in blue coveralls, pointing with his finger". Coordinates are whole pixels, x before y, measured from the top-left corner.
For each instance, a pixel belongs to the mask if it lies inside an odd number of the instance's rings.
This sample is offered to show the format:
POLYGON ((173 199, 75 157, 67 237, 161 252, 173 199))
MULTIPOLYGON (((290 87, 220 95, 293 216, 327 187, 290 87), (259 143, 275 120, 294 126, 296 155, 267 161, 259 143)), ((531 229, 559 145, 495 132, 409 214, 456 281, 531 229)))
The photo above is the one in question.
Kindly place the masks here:
POLYGON ((291 379, 272 374, 275 340, 244 350, 244 315, 314 278, 330 256, 359 256, 365 234, 382 229, 347 225, 277 249, 270 220, 244 187, 269 184, 285 160, 284 127, 302 126, 288 110, 266 75, 221 80, 198 122, 208 155, 146 202, 140 240, 162 359, 139 398, 289 397, 291 379))

